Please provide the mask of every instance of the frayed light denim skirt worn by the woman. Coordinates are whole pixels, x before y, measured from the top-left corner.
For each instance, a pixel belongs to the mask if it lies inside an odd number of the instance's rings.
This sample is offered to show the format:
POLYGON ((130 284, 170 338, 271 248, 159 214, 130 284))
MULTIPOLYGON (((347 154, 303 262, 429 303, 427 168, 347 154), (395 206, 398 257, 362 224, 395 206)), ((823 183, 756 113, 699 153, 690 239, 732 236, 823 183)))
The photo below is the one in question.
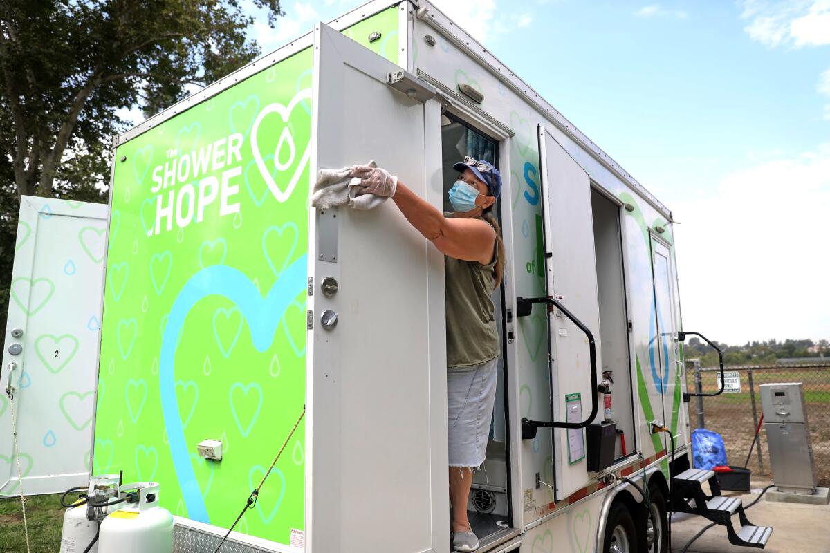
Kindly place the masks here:
POLYGON ((451 467, 484 463, 496 400, 499 358, 447 371, 447 430, 451 467))

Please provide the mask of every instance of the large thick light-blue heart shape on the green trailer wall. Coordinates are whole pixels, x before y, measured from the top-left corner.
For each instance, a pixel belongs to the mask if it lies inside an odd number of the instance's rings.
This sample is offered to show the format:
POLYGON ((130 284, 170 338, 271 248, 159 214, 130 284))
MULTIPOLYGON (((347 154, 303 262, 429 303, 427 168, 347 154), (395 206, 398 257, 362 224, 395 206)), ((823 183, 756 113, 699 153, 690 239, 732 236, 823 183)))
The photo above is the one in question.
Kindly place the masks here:
POLYGON ((265 298, 251 283, 245 274, 232 267, 214 265, 194 274, 178 293, 161 342, 159 360, 159 390, 161 394, 162 415, 167 428, 170 454, 176 471, 182 498, 187 508, 188 517, 210 523, 204 498, 199 491, 196 473, 190 462, 188 445, 184 440, 182 420, 178 414, 176 400, 174 357, 178 342, 178 332, 184 324, 190 310, 201 299, 208 296, 223 296, 236 303, 242 316, 251 329, 251 342, 257 352, 264 352, 274 341, 276 327, 284 317, 286 309, 297 294, 306 286, 306 256, 289 265, 268 290, 265 298))

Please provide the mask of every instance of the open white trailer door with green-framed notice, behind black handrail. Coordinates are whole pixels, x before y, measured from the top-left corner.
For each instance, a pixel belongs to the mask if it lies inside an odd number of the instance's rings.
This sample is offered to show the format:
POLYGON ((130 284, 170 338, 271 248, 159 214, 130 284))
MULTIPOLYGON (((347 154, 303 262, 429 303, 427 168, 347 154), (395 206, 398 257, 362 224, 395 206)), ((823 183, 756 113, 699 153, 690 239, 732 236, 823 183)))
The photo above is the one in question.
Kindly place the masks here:
MULTIPOLYGON (((539 127, 547 293, 599 336, 599 300, 593 242, 591 182, 579 163, 539 127)), ((561 313, 549 320, 550 385, 556 422, 581 422, 591 411, 588 338, 561 313)), ((603 366, 597 352, 597 366, 603 366)), ((583 429, 554 429, 554 496, 557 501, 588 481, 583 429)))

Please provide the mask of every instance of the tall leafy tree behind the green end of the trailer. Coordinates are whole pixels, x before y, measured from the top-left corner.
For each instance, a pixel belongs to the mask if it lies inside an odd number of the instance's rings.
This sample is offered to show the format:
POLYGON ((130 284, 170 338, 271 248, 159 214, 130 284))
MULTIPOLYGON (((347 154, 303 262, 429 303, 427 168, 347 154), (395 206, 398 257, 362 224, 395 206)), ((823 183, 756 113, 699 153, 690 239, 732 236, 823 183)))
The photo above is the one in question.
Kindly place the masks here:
MULTIPOLYGON (((269 23, 280 0, 251 0, 269 23)), ((0 2, 0 148, 17 196, 105 186, 118 109, 173 104, 259 53, 238 0, 0 2), (70 182, 71 180, 71 182, 70 182)))

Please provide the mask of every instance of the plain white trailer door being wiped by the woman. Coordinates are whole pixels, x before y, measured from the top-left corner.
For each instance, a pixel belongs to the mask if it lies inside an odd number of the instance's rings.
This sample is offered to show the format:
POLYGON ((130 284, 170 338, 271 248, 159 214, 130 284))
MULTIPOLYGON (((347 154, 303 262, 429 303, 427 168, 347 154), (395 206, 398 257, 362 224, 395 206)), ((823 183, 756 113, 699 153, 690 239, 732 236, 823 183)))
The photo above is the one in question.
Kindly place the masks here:
MULTIPOLYGON (((315 27, 311 174, 374 159, 441 209, 441 106, 399 70, 315 27)), ((443 257, 392 200, 310 216, 306 547, 447 551, 443 257)))

